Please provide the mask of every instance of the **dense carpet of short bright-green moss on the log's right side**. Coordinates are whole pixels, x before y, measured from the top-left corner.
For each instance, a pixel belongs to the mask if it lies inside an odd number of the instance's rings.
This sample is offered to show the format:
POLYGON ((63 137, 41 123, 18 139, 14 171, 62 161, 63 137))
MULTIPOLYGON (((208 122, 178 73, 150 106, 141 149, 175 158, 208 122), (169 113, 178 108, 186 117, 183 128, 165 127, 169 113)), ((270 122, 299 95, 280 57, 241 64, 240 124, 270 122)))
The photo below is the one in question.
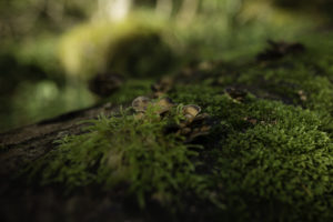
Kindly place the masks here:
POLYGON ((221 120, 212 135, 219 143, 209 142, 204 153, 212 190, 228 209, 221 216, 332 219, 333 143, 316 112, 251 97, 244 103, 221 94, 196 100, 209 100, 206 110, 221 120))

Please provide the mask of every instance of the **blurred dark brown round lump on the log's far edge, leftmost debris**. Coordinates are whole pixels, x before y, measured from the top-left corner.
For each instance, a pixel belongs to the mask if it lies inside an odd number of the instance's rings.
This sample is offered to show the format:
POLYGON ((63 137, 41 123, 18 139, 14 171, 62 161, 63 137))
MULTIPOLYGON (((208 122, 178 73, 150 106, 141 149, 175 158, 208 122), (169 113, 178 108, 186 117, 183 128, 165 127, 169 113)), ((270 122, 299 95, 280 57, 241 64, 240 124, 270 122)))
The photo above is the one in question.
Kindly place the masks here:
POLYGON ((89 81, 89 90, 99 97, 109 97, 123 83, 121 75, 111 72, 99 73, 89 81))

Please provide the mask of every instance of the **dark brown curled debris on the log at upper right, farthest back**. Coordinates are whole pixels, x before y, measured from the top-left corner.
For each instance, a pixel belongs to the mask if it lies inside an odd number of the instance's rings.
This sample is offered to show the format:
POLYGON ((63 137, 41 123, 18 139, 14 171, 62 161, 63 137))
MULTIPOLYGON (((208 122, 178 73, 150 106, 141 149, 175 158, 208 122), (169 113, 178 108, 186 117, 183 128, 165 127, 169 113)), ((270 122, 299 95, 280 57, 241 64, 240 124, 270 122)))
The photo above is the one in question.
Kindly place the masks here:
POLYGON ((270 48, 258 54, 256 59, 259 61, 276 60, 286 54, 300 53, 305 50, 305 47, 297 42, 287 43, 284 41, 276 42, 268 40, 268 43, 270 44, 270 48))

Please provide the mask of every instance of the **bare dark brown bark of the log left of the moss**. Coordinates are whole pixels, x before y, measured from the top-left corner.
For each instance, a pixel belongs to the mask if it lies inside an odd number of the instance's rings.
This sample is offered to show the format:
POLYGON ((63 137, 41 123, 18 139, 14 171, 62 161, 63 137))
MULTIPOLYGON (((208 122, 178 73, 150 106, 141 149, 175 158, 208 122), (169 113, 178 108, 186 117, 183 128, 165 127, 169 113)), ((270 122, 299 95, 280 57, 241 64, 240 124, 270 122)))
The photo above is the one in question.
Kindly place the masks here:
POLYGON ((110 115, 110 103, 79 110, 0 134, 0 221, 124 221, 122 203, 95 192, 63 196, 57 188, 32 188, 12 180, 24 165, 57 149, 54 141, 65 134, 83 133, 84 120, 110 115))

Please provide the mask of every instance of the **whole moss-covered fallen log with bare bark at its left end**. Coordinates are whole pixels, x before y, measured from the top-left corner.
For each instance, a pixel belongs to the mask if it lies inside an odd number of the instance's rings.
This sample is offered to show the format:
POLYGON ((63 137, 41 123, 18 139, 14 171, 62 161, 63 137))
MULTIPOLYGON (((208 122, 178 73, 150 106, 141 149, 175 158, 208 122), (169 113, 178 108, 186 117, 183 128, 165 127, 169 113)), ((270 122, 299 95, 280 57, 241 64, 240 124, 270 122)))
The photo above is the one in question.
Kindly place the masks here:
POLYGON ((332 221, 325 50, 271 42, 250 62, 191 64, 110 98, 171 98, 163 115, 103 104, 0 134, 2 221, 332 221), (183 104, 211 119, 190 143, 183 104))

